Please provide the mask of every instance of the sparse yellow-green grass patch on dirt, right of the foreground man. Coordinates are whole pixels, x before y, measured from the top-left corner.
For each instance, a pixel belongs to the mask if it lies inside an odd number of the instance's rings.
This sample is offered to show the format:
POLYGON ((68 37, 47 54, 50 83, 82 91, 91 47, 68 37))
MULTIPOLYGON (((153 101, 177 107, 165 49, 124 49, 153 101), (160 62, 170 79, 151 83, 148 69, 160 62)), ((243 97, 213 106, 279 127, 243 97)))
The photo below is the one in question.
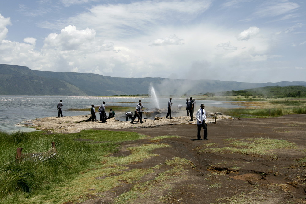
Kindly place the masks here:
POLYGON ((271 151, 273 149, 294 148, 295 143, 286 140, 269 138, 248 138, 248 139, 225 139, 226 146, 222 148, 207 148, 199 150, 200 152, 218 152, 218 153, 238 153, 244 155, 267 155, 276 157, 271 151))

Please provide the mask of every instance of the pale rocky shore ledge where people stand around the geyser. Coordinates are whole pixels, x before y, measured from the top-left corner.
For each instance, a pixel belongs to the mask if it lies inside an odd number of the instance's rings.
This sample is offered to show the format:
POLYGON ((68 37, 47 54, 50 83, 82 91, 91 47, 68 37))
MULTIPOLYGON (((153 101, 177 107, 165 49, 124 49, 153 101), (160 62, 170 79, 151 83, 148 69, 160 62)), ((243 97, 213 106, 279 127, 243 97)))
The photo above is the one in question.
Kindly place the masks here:
MULTIPOLYGON (((156 126, 163 125, 177 125, 177 124, 196 124, 196 117, 193 117, 193 121, 190 120, 190 116, 179 116, 172 117, 172 119, 165 117, 155 117, 154 120, 146 119, 143 124, 137 122, 136 119, 133 124, 130 123, 130 120, 127 122, 119 121, 114 118, 107 119, 107 123, 98 122, 80 122, 87 120, 91 117, 91 114, 80 115, 80 116, 64 116, 64 117, 45 117, 37 118, 34 120, 27 121, 26 123, 19 123, 18 126, 22 127, 31 127, 37 130, 50 131, 52 133, 77 133, 81 130, 86 129, 125 129, 125 128, 152 128, 156 126)), ((221 120, 233 119, 230 116, 226 115, 217 115, 217 123, 221 120)), ((214 117, 207 117, 207 124, 215 123, 214 117)))

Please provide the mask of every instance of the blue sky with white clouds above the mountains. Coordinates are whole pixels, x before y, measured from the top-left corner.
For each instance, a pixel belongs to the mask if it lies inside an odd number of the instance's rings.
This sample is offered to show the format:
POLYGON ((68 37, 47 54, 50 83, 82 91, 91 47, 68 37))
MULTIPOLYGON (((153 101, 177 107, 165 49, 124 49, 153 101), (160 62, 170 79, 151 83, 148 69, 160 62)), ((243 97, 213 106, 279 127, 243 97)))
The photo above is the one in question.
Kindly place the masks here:
POLYGON ((303 0, 0 2, 0 64, 112 77, 306 81, 303 0))

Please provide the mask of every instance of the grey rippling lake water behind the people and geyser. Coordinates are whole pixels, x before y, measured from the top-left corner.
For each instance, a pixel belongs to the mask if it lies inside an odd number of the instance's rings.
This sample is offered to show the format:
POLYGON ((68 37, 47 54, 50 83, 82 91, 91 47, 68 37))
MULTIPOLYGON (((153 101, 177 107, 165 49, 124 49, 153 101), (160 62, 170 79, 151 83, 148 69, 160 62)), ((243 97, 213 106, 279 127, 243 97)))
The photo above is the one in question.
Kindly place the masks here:
MULTIPOLYGON (((157 107, 153 98, 126 98, 126 97, 95 97, 95 96, 0 96, 0 130, 1 131, 34 131, 34 128, 24 128, 16 124, 35 118, 57 117, 57 103, 62 100, 62 112, 64 116, 87 115, 89 111, 69 111, 69 108, 90 108, 91 104, 99 106, 105 101, 107 107, 111 106, 129 106, 131 112, 135 110, 141 99, 146 109, 157 107)), ((169 98, 158 98, 160 108, 167 108, 169 98)), ((183 105, 180 113, 186 115, 185 105, 186 98, 172 97, 173 109, 178 104, 183 105)), ((206 107, 239 107, 239 105, 231 104, 226 101, 196 100, 196 109, 200 108, 200 104, 204 103, 206 107)), ((98 112, 98 110, 96 110, 98 112)), ((109 110, 106 110, 109 112, 109 110)), ((97 114, 99 119, 99 114, 97 114)), ((116 118, 125 121, 124 113, 116 113, 116 118)))

